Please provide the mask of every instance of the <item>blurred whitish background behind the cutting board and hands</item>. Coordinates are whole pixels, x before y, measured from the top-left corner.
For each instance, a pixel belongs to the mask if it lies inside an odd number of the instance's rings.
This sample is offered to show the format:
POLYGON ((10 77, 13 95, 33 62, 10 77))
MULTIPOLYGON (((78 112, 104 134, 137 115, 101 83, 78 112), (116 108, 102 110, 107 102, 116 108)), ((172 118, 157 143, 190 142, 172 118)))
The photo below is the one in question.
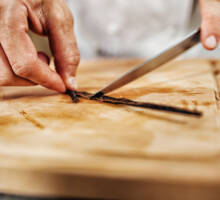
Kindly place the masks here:
MULTIPOLYGON (((67 0, 82 59, 150 57, 200 25, 198 0, 67 0)), ((33 37, 40 50, 47 49, 33 37)), ((182 57, 220 57, 201 45, 182 57)))

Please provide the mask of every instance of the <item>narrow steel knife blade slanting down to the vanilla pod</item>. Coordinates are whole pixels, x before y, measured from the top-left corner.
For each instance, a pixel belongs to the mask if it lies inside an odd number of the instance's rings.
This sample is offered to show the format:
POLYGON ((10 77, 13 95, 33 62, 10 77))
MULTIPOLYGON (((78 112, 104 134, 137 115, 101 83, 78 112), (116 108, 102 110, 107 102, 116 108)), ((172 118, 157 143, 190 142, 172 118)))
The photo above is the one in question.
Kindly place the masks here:
POLYGON ((150 60, 148 59, 142 64, 134 67, 133 69, 122 75, 120 78, 113 81, 108 86, 104 87, 99 92, 91 96, 91 99, 98 98, 100 96, 103 96, 104 94, 112 92, 113 90, 121 88, 122 86, 140 78, 141 76, 159 68, 161 65, 176 58, 177 56, 184 53, 186 50, 190 49, 200 42, 200 32, 200 29, 193 31, 177 44, 169 47, 167 50, 161 52, 150 60))

